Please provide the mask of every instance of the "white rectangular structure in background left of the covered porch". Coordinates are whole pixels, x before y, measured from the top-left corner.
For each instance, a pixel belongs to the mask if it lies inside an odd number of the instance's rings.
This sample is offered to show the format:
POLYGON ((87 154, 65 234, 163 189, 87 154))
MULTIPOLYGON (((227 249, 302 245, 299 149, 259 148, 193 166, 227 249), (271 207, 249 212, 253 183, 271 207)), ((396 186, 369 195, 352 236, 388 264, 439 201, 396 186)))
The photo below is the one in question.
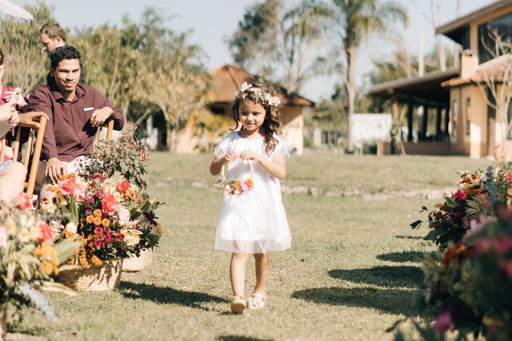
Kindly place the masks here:
POLYGON ((354 113, 352 141, 357 148, 365 142, 390 141, 391 113, 354 113))

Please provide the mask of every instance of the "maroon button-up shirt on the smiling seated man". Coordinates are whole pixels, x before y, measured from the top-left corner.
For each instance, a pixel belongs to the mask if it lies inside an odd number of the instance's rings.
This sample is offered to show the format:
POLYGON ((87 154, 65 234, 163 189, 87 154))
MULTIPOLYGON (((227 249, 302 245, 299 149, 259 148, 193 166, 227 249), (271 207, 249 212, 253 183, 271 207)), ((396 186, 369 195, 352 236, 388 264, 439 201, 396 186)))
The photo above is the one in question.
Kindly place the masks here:
POLYGON ((98 131, 90 123, 96 109, 111 107, 114 112, 114 129, 121 130, 124 117, 105 96, 90 85, 76 85, 75 98, 68 102, 60 93, 55 80, 38 85, 29 96, 31 111, 42 111, 50 118, 46 124, 45 139, 42 142, 41 160, 58 157, 70 162, 80 155, 90 155, 90 147, 98 131))

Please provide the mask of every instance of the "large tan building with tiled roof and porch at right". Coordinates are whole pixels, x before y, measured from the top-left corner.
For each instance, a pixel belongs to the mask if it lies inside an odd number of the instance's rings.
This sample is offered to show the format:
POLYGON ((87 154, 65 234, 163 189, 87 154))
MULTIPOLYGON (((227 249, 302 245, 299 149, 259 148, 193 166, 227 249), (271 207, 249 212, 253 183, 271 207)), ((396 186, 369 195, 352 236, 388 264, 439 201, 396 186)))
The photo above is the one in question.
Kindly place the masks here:
POLYGON ((393 117, 398 115, 399 104, 408 106, 409 141, 404 144, 406 151, 409 148, 412 153, 426 151, 480 157, 492 155, 493 146, 503 141, 506 150, 512 148, 510 132, 506 132, 507 138, 502 139, 505 136, 502 128, 512 120, 512 104, 507 108, 502 106, 502 115, 497 113, 493 106, 488 105, 489 102, 495 103, 496 99, 489 95, 491 92, 487 86, 492 80, 497 96, 507 96, 507 91, 502 92, 501 89, 503 80, 512 77, 512 57, 500 52, 502 56, 496 58, 492 34, 501 35, 502 41, 510 41, 510 32, 512 0, 497 1, 436 28, 436 34, 443 34, 460 44, 459 66, 372 86, 371 95, 391 98, 393 117), (417 118, 421 121, 418 135, 423 137, 428 135, 429 108, 437 108, 431 141, 412 142, 414 109, 418 106, 422 106, 424 112, 421 118, 417 118))

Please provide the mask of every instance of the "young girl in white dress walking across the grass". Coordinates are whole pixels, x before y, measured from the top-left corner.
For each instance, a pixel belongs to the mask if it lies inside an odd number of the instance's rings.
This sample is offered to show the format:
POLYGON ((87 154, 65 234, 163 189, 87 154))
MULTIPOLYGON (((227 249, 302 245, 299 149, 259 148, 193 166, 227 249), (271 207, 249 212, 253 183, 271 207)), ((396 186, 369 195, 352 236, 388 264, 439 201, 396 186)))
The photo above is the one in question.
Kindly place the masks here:
POLYGON ((237 128, 241 124, 241 129, 233 129, 215 148, 210 173, 219 174, 226 164, 226 178, 241 180, 241 190, 236 194, 226 190, 222 198, 215 248, 231 252, 229 276, 234 298, 230 308, 243 313, 246 307, 260 309, 265 305, 268 251, 284 251, 291 246, 279 180, 286 175, 285 161, 293 147, 279 135, 280 99, 268 87, 244 83, 235 95, 229 117, 237 128), (245 182, 250 177, 248 163, 254 169, 252 187, 245 182), (254 255, 256 286, 246 301, 248 254, 254 255))

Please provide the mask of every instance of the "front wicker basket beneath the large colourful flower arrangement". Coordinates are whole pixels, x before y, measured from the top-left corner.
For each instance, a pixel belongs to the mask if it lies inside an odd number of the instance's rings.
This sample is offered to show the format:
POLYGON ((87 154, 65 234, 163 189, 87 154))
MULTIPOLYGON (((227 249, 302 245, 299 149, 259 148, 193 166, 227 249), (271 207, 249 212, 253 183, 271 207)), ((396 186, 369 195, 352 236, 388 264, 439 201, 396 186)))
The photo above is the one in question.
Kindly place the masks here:
POLYGON ((117 258, 102 266, 60 271, 59 282, 77 291, 112 290, 121 282, 122 263, 122 258, 117 258))

